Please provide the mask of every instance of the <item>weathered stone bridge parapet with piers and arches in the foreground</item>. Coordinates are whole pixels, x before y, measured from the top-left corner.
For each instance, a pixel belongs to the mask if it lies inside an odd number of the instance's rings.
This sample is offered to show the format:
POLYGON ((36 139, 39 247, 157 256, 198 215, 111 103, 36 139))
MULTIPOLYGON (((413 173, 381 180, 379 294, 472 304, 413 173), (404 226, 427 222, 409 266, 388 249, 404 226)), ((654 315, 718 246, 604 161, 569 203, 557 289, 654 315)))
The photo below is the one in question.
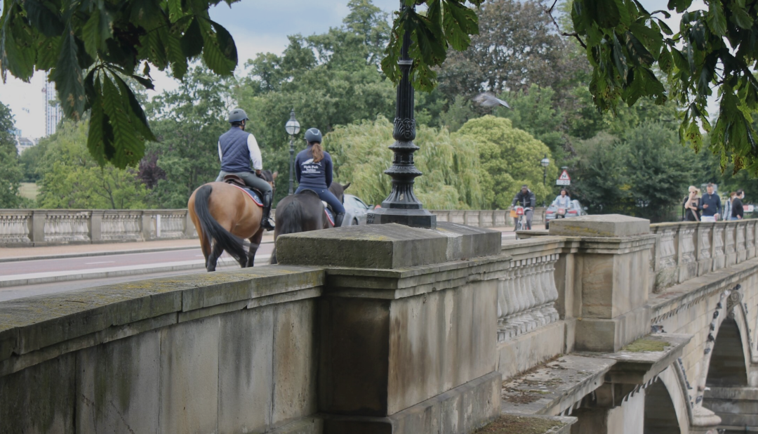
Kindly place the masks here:
POLYGON ((339 228, 3 302, 0 432, 756 431, 756 223, 339 228))

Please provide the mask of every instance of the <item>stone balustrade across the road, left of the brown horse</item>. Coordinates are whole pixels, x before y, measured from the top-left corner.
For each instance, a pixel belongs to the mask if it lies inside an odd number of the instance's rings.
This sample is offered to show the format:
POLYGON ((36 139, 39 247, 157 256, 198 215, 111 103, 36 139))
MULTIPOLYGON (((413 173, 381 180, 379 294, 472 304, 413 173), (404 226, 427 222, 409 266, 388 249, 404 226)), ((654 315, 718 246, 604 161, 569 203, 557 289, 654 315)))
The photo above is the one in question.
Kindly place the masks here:
POLYGON ((197 237, 186 209, 0 209, 0 246, 197 237))

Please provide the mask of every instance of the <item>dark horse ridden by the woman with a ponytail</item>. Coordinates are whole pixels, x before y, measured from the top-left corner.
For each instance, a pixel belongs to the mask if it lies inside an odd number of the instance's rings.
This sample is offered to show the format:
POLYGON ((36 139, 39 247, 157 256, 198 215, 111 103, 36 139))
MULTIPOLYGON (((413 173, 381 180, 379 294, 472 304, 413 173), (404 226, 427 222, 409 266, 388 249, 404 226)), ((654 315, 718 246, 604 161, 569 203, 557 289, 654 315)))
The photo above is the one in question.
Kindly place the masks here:
MULTIPOLYGON (((342 185, 332 182, 329 186, 334 196, 340 202, 345 200, 345 190, 350 183, 342 185)), ((297 194, 290 194, 277 203, 277 225, 274 229, 274 251, 271 252, 271 263, 277 263, 277 237, 283 234, 296 234, 298 232, 328 229, 332 223, 327 219, 324 212, 324 203, 313 190, 302 190, 297 194)))

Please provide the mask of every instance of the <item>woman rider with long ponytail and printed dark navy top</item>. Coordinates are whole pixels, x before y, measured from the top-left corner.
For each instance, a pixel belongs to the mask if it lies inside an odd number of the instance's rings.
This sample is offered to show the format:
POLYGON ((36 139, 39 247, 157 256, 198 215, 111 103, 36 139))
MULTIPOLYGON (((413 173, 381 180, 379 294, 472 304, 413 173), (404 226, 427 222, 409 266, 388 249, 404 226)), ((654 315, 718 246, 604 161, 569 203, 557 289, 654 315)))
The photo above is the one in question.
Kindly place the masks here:
POLYGON ((321 131, 310 128, 305 131, 305 142, 308 147, 300 151, 295 158, 295 175, 299 186, 295 193, 302 190, 313 190, 328 203, 336 214, 334 227, 339 228, 345 218, 345 207, 332 192, 329 186, 332 181, 332 161, 329 153, 321 148, 321 131))

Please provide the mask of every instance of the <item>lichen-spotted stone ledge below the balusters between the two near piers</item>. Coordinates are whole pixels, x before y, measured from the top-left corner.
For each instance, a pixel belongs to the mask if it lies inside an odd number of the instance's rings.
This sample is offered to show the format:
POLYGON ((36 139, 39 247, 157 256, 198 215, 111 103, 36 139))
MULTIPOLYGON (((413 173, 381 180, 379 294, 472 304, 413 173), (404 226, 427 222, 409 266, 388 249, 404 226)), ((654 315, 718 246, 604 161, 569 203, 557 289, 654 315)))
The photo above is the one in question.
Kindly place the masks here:
POLYGON ((562 414, 603 385, 615 360, 569 354, 503 382, 501 411, 562 414))

